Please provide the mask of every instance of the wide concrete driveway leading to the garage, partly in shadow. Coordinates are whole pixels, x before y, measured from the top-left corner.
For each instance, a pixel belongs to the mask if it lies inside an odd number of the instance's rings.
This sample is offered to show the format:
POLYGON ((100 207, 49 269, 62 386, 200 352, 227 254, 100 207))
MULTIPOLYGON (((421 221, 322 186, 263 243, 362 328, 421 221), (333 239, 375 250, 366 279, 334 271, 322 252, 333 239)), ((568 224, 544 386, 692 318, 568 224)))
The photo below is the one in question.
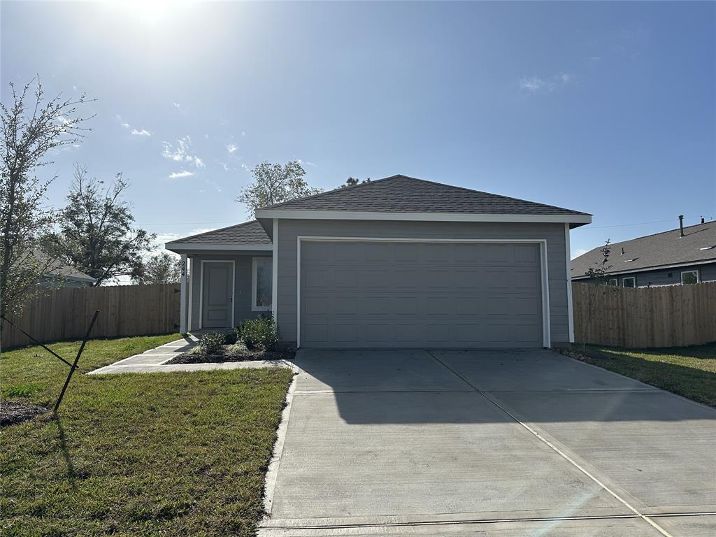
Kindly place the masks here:
POLYGON ((261 535, 716 535, 716 411, 551 351, 301 351, 261 535))

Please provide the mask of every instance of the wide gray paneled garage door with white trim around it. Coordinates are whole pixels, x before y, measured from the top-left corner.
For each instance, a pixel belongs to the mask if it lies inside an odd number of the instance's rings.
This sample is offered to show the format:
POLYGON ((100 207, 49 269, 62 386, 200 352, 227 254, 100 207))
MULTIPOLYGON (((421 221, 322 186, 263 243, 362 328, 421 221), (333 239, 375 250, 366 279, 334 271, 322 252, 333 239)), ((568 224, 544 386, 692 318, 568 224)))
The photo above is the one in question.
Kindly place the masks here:
POLYGON ((301 241, 301 347, 543 347, 539 246, 301 241))

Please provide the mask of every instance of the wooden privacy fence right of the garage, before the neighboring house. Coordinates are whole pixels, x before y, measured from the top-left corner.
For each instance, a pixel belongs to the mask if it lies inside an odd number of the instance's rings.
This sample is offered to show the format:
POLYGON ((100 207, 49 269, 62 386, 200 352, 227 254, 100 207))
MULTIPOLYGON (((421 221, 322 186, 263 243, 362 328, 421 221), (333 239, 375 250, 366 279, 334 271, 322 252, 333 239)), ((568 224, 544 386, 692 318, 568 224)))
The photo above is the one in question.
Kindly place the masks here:
POLYGON ((716 342, 716 282, 624 289, 572 284, 574 339, 614 347, 716 342))

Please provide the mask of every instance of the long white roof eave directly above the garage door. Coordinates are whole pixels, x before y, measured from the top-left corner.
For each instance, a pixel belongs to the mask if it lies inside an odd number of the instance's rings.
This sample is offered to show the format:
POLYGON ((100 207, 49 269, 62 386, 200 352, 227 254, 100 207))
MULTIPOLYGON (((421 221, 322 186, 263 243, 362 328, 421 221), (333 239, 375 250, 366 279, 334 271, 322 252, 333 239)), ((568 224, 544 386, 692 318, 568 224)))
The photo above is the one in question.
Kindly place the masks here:
POLYGON ((569 223, 570 227, 591 223, 591 215, 576 214, 509 214, 509 213, 395 213, 378 211, 301 211, 295 209, 259 209, 259 222, 263 219, 286 218, 291 220, 392 220, 424 222, 523 222, 569 223))

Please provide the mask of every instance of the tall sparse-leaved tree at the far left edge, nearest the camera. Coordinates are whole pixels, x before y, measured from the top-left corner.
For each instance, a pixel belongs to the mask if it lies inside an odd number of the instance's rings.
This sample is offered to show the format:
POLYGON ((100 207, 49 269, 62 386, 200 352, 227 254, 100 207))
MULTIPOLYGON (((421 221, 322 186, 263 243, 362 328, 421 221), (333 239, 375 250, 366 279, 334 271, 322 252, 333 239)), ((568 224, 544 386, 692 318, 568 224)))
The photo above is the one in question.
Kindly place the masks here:
MULTIPOLYGON (((16 92, 10 83, 11 102, 0 103, 0 314, 19 314, 24 301, 37 292, 37 284, 56 263, 38 256, 40 238, 55 220, 47 207, 47 188, 57 178, 39 180, 35 173, 52 163, 47 154, 64 145, 77 145, 90 117, 79 115, 88 102, 46 98, 39 79, 16 92)), ((1 326, 1 325, 0 325, 1 326)))

